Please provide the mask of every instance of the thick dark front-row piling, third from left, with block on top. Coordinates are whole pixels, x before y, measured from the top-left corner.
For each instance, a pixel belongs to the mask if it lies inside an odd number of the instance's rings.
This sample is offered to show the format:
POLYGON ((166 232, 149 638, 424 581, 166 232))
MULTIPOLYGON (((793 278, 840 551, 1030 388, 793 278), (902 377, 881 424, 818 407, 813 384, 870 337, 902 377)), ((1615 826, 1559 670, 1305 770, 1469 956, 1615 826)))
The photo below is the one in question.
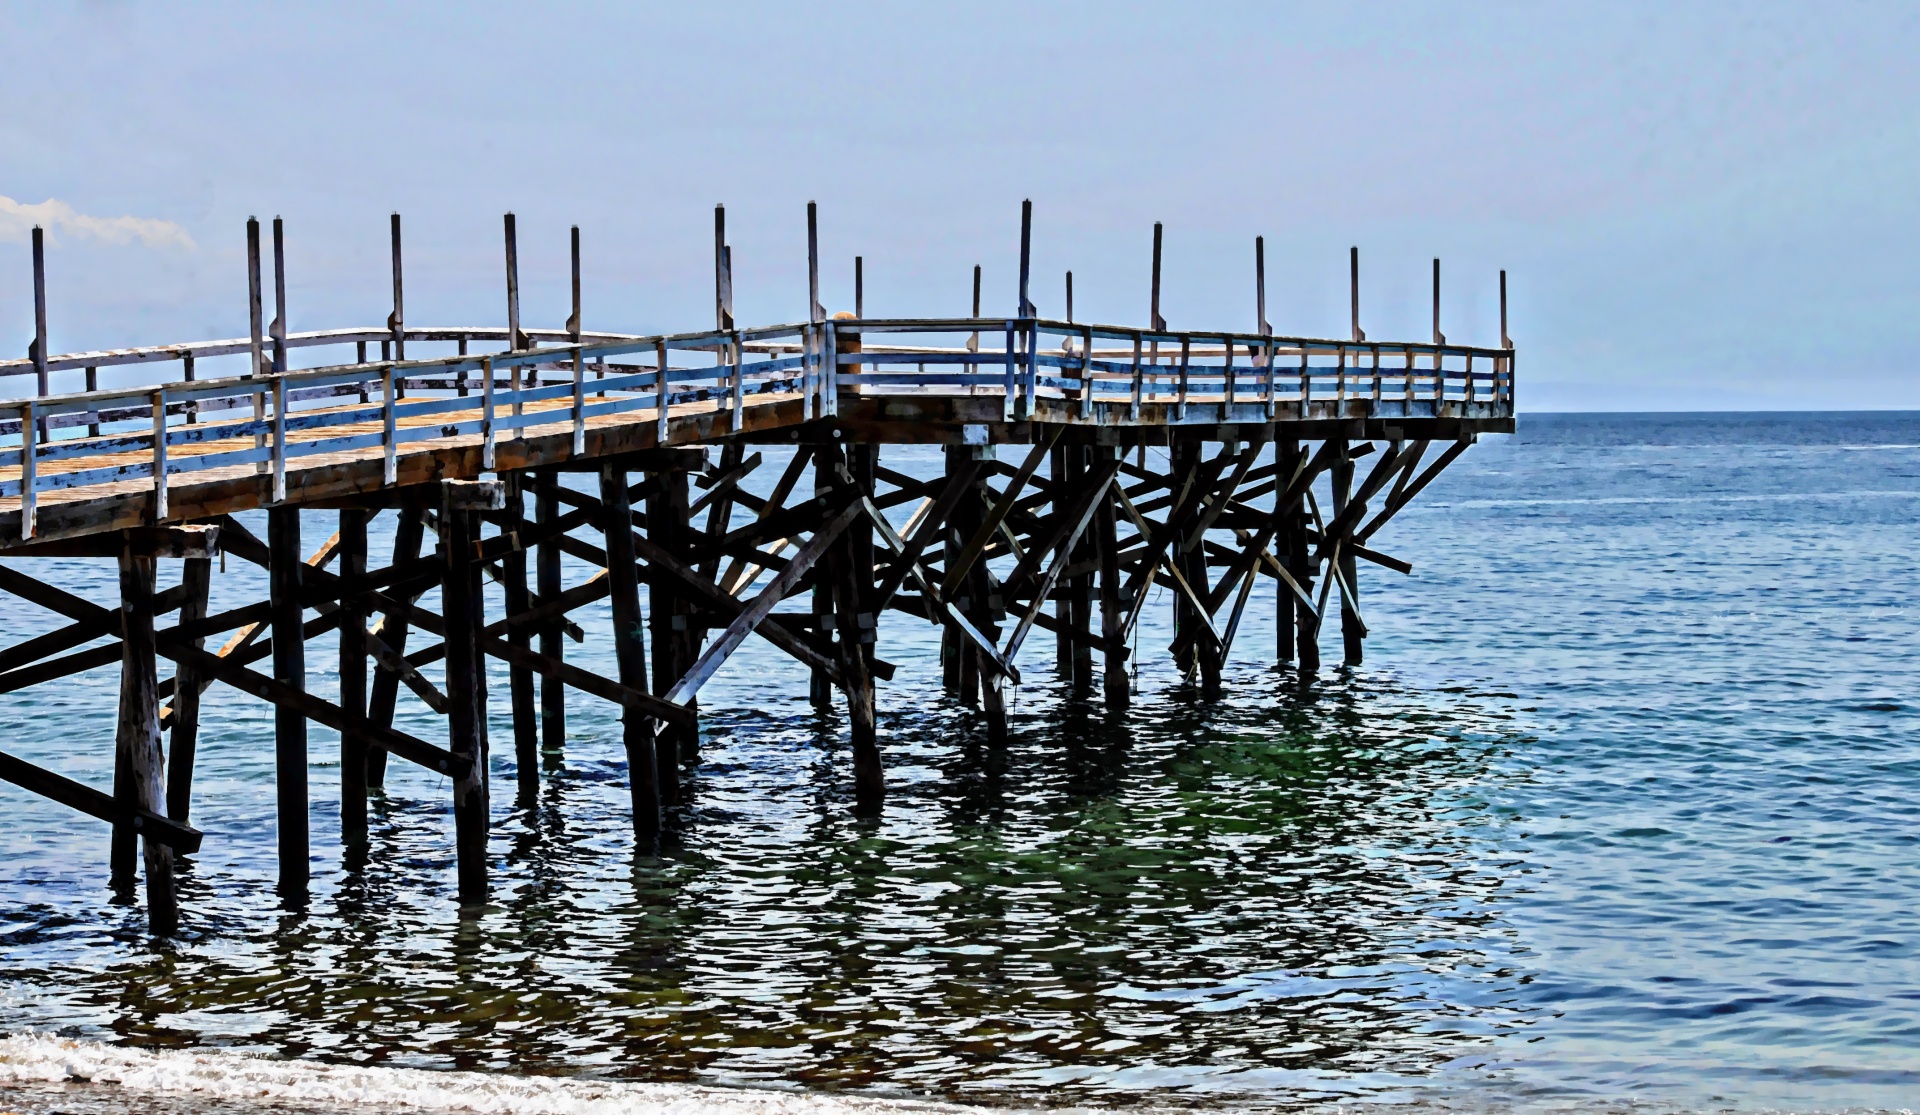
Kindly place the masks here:
POLYGON ((453 781, 453 848, 461 906, 486 902, 488 894, 486 658, 480 652, 486 614, 480 562, 474 560, 478 534, 478 514, 455 509, 455 501, 444 497, 440 606, 447 629, 447 750, 470 760, 467 773, 453 781))

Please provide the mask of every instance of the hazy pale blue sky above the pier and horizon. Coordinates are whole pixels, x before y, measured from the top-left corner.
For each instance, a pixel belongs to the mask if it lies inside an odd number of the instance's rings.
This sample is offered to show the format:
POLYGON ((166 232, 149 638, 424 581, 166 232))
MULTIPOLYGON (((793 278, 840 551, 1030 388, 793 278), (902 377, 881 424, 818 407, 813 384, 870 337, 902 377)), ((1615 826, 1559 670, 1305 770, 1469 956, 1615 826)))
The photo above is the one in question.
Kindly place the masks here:
POLYGON ((50 221, 54 347, 246 332, 244 221, 284 215, 292 328, 388 309, 499 324, 499 215, 526 317, 710 324, 712 205, 735 309, 870 315, 1016 297, 1175 328, 1492 344, 1513 290, 1526 409, 1920 407, 1920 6, 0 4, 0 351, 23 353, 25 226, 50 221), (52 207, 46 203, 52 202, 52 207), (119 221, 131 219, 131 221, 119 221))

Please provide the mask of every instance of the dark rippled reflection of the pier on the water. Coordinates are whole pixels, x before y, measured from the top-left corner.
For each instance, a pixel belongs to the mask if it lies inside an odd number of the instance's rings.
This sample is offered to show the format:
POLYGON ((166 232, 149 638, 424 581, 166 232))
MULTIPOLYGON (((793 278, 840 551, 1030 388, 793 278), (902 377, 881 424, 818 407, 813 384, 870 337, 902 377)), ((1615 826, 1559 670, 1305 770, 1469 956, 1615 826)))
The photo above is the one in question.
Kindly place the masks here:
POLYGON ((1488 804, 1524 747, 1501 695, 1165 681, 1125 714, 1029 687, 1004 748, 889 687, 874 819, 837 714, 716 706, 641 856, 611 718, 518 802, 495 731, 484 910, 455 913, 445 791, 409 773, 305 908, 263 896, 269 833, 182 869, 173 946, 48 879, 8 994, 150 1046, 1008 1103, 1382 1098, 1530 1021, 1503 923, 1524 867, 1488 804))

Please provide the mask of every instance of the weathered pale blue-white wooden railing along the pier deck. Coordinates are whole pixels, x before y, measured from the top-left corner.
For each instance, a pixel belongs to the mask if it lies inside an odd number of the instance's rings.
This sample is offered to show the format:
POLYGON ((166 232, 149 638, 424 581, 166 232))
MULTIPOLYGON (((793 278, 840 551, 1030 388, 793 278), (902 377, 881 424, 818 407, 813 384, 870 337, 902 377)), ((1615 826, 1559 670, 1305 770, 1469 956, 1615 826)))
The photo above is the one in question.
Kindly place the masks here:
MULTIPOLYGON (((1004 420, 1068 422, 1112 422, 1119 411, 1129 422, 1183 422, 1202 403, 1215 407, 1212 420, 1275 420, 1283 409, 1308 416, 1317 403, 1365 401, 1369 413, 1384 405, 1405 416, 1446 409, 1511 416, 1513 405, 1511 349, 1450 344, 1154 332, 1041 319, 833 319, 670 336, 522 336, 536 345, 564 344, 367 361, 365 345, 390 344, 394 332, 290 334, 286 347, 353 344, 359 359, 215 380, 192 378, 194 361, 257 353, 257 344, 52 357, 50 370, 180 361, 188 376, 0 401, 0 476, 10 474, 0 480, 0 499, 21 501, 21 535, 33 537, 40 493, 148 480, 156 520, 165 520, 169 478, 186 472, 252 464, 271 474, 273 501, 282 501, 288 463, 303 457, 378 451, 386 484, 394 484, 399 449, 413 441, 480 436, 482 468, 492 468, 497 439, 532 426, 568 424, 572 451, 584 453, 593 418, 651 409, 664 443, 672 407, 728 409, 730 428, 739 428, 747 407, 793 395, 803 399, 804 418, 837 415, 843 393, 914 391, 993 393, 1002 399, 1004 420), (947 344, 897 344, 916 334, 947 344), (651 363, 622 363, 636 355, 651 363), (691 367, 695 355, 712 365, 691 367), (1171 415, 1142 415, 1142 407, 1164 405, 1173 407, 1171 415), (221 443, 227 447, 215 449, 221 443)), ((405 332, 405 340, 457 342, 461 349, 507 338, 509 330, 486 328, 405 332)), ((35 370, 27 361, 0 363, 0 374, 35 370)))

